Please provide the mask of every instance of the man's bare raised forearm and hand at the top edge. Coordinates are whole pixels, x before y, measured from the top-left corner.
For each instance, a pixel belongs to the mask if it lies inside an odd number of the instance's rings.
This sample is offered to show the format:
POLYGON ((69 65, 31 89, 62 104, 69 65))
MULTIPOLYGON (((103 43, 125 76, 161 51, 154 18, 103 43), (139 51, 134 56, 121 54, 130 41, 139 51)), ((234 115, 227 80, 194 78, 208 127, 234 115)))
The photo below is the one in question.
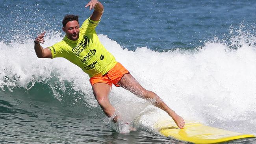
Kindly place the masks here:
POLYGON ((91 0, 85 7, 90 6, 90 10, 94 8, 93 14, 91 15, 91 20, 98 21, 100 20, 103 12, 104 7, 98 0, 91 0))

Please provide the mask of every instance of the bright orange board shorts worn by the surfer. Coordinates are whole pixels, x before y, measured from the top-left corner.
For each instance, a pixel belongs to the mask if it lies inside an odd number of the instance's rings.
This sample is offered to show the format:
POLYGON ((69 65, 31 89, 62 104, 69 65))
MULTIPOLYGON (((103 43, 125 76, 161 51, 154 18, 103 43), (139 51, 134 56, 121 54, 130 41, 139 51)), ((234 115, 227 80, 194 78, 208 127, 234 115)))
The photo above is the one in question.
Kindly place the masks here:
POLYGON ((130 72, 126 70, 126 68, 124 68, 121 63, 117 63, 103 76, 90 78, 90 83, 91 85, 94 85, 95 83, 106 83, 110 85, 110 87, 112 87, 112 84, 116 87, 120 87, 120 85, 117 83, 121 80, 124 74, 130 74, 130 72))

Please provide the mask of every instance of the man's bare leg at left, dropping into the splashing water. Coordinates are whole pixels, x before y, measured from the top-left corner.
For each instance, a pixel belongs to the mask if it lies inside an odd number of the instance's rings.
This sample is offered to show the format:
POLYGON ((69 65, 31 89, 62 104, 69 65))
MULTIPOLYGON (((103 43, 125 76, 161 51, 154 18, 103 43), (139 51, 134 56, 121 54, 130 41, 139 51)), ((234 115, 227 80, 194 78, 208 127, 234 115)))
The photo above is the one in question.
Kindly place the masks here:
POLYGON ((113 117, 113 122, 117 122, 117 116, 115 114, 115 108, 109 103, 108 95, 111 91, 111 87, 106 83, 95 83, 93 86, 93 94, 98 101, 103 112, 108 117, 113 117))

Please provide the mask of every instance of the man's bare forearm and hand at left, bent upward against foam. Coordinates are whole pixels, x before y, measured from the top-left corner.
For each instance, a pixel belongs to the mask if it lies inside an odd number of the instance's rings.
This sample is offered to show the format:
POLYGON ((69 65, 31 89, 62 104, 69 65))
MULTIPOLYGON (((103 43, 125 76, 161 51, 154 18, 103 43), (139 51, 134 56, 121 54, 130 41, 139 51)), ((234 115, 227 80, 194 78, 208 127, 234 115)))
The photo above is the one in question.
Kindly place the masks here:
POLYGON ((39 58, 52 58, 52 52, 49 50, 49 48, 43 48, 40 43, 44 43, 44 36, 45 32, 41 33, 36 39, 35 39, 35 54, 39 58))

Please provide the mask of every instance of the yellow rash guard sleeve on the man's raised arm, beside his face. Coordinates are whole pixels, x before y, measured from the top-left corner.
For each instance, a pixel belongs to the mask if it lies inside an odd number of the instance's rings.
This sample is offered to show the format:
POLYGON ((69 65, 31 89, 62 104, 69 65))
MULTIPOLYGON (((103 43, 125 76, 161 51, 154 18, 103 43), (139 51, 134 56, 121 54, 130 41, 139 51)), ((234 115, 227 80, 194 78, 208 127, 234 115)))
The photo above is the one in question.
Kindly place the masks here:
POLYGON ((80 28, 80 32, 84 33, 94 33, 95 32, 95 28, 96 26, 98 26, 98 23, 100 22, 100 20, 98 21, 93 21, 91 20, 91 18, 87 18, 81 28, 80 28))

